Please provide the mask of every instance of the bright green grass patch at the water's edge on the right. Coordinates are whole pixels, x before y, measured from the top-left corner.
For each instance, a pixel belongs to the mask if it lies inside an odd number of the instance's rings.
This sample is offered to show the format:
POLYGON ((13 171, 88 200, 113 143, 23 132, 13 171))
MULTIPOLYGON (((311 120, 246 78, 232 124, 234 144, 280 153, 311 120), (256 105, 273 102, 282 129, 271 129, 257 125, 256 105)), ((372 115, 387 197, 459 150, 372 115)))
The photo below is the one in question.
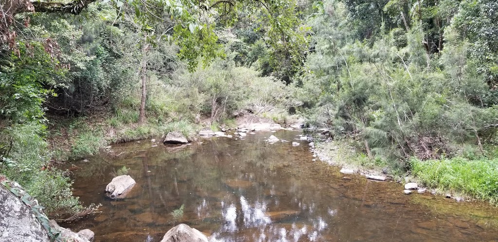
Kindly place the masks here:
POLYGON ((498 158, 412 158, 410 166, 413 175, 429 188, 464 193, 498 205, 498 158))

